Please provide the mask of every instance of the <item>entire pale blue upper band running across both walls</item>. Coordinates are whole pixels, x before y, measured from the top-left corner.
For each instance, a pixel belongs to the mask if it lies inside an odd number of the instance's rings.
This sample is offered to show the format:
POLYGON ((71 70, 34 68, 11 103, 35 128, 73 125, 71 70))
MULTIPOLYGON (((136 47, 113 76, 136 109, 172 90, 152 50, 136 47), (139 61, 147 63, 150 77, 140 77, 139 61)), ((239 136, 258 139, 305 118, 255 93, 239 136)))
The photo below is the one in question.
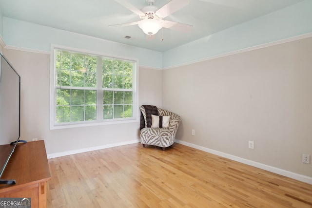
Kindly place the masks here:
POLYGON ((312 0, 200 38, 163 53, 3 17, 0 33, 8 46, 50 51, 51 43, 108 55, 133 57, 140 66, 168 68, 312 32, 312 0))

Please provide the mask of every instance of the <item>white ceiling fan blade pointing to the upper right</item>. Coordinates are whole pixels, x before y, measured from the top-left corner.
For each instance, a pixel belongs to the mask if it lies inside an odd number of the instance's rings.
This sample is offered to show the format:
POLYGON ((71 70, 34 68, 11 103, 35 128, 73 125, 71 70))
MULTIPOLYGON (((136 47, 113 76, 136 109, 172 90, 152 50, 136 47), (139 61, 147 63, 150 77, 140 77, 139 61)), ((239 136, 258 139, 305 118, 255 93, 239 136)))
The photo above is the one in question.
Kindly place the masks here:
POLYGON ((165 18, 177 10, 183 8, 187 4, 189 4, 189 0, 171 0, 163 7, 158 9, 155 14, 158 18, 165 18))

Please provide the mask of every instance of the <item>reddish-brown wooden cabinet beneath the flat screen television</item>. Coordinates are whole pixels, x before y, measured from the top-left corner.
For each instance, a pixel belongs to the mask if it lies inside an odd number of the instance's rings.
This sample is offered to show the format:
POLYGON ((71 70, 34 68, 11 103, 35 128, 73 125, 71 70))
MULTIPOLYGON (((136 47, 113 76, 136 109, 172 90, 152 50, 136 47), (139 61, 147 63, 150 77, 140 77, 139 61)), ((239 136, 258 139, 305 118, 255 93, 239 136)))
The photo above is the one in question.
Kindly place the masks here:
MULTIPOLYGON (((0 146, 5 148, 5 145, 0 146)), ((46 208, 47 181, 51 179, 44 141, 19 143, 1 179, 15 179, 15 185, 0 185, 0 197, 31 198, 32 208, 46 208)))

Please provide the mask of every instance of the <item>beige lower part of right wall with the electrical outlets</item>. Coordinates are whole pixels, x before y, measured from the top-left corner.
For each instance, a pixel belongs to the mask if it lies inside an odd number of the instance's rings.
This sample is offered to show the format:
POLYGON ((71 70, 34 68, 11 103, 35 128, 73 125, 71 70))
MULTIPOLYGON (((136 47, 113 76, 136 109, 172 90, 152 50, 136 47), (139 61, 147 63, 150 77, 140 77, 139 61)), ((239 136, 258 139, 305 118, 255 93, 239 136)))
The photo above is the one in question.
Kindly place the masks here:
POLYGON ((312 155, 312 38, 162 77, 162 106, 182 117, 176 139, 312 177, 312 164, 301 162, 302 153, 312 155))

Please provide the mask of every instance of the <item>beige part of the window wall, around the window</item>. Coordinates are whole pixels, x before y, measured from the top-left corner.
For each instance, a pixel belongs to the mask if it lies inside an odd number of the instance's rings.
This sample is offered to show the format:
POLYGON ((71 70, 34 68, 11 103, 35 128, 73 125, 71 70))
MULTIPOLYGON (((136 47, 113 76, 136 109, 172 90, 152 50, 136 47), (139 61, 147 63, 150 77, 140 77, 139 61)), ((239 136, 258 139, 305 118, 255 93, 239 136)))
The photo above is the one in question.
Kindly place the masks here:
MULTIPOLYGON (((45 140, 48 154, 139 139, 139 123, 50 130, 50 55, 4 49, 21 76, 21 138, 45 140)), ((161 70, 139 68, 139 105, 161 105, 161 70), (153 81, 148 81, 151 76, 153 81), (142 80, 142 81, 141 81, 142 80), (151 84, 155 82, 155 84, 151 84)))

